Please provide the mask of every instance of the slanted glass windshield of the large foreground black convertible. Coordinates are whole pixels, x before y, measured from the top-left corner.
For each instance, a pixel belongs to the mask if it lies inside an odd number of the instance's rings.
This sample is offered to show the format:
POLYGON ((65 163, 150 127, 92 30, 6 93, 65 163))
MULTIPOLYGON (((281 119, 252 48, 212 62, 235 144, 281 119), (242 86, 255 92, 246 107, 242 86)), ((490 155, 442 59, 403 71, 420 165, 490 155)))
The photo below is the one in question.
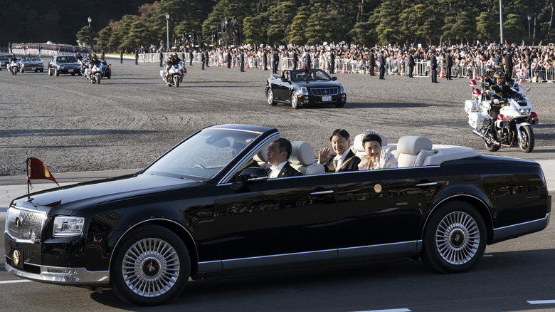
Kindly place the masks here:
POLYGON ((154 162, 144 173, 208 180, 228 165, 260 133, 205 129, 154 162))

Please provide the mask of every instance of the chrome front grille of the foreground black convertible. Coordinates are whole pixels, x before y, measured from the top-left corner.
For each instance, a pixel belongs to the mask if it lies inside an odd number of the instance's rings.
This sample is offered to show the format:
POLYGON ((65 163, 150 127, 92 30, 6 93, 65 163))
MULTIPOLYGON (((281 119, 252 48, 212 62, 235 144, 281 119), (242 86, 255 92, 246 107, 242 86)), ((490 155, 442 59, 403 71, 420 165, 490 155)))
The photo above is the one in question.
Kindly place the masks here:
POLYGON ((6 215, 6 233, 16 241, 41 241, 46 214, 10 207, 6 215))

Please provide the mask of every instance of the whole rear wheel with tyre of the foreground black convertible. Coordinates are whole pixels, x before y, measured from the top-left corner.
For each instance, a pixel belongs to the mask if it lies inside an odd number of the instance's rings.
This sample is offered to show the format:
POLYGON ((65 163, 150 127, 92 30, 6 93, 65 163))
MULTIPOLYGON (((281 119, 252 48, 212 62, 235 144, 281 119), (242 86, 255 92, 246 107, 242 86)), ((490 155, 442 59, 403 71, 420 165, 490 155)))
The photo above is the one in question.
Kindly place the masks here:
POLYGON ((433 212, 424 232, 423 262, 442 273, 472 269, 487 242, 482 215, 466 202, 450 202, 433 212))

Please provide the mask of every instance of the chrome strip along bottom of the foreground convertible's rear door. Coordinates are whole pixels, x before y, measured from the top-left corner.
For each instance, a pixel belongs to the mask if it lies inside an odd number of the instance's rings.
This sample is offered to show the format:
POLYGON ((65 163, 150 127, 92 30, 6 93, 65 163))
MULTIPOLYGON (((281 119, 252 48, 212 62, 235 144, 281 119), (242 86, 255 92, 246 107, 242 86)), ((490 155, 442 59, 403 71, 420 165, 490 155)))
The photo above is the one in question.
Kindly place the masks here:
POLYGON ((356 246, 339 249, 339 259, 354 258, 357 256, 376 256, 381 254, 406 254, 418 251, 421 240, 401 241, 398 243, 356 246))

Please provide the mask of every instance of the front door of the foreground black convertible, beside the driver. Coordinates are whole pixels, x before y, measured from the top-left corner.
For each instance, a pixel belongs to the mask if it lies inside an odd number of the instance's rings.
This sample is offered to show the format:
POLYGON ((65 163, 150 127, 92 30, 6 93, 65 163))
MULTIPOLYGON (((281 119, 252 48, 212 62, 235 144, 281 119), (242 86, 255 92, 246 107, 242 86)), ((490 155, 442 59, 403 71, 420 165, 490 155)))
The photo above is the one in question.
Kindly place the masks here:
POLYGON ((337 259, 331 175, 268 179, 235 191, 217 187, 223 269, 337 259))

